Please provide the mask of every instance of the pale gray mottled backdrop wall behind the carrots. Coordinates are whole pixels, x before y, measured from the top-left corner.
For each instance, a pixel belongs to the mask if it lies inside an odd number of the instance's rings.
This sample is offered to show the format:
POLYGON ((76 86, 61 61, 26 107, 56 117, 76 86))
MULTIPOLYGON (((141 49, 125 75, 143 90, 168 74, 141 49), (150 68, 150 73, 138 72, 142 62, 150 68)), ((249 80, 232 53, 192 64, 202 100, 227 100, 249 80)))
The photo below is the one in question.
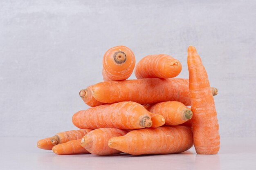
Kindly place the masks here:
MULTIPOLYGON (((125 45, 137 61, 198 49, 222 137, 256 136, 256 1, 0 1, 0 136, 76 129, 81 88, 102 81, 102 57, 125 45)), ((130 77, 134 79, 135 76, 130 77)))

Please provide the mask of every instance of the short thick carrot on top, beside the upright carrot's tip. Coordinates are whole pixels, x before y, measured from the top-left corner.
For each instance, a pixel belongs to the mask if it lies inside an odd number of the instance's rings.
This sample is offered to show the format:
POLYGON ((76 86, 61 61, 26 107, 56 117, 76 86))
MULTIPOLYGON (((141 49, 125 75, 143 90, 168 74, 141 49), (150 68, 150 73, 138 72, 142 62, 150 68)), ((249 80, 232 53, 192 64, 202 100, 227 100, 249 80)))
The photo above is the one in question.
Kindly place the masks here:
POLYGON ((179 60, 170 55, 148 55, 136 65, 135 76, 142 78, 173 78, 180 74, 182 69, 179 60))

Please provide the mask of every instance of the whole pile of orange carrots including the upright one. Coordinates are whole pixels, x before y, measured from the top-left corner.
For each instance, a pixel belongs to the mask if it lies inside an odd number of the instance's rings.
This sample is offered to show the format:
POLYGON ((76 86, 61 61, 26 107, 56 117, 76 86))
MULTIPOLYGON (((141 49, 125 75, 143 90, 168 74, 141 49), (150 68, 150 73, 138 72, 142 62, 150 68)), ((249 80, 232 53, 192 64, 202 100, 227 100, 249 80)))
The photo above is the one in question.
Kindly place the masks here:
POLYGON ((189 150, 217 154, 219 125, 207 72, 195 47, 189 46, 189 79, 170 55, 148 55, 135 67, 135 55, 115 46, 103 56, 104 82, 79 92, 91 108, 72 117, 79 130, 58 132, 37 142, 57 155, 171 154, 189 150), (135 69, 137 79, 127 80, 135 69), (188 107, 191 106, 191 107, 188 107))

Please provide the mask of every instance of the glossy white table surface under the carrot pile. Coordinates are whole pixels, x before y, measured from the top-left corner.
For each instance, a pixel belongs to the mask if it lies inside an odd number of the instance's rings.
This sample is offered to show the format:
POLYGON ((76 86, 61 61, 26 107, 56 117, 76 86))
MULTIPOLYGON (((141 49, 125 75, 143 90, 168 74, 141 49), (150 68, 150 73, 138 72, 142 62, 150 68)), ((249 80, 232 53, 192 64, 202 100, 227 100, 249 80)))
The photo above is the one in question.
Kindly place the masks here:
POLYGON ((0 170, 256 170, 256 138, 222 138, 218 155, 55 155, 39 137, 0 137, 0 170))

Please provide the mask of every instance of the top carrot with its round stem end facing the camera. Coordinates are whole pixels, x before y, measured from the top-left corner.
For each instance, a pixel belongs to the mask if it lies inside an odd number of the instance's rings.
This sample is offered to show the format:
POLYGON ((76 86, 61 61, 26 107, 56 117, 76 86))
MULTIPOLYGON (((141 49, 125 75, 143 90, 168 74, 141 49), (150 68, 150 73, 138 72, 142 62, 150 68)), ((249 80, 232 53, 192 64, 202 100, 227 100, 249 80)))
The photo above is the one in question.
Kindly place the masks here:
POLYGON ((112 47, 103 57, 103 79, 104 81, 128 79, 134 67, 135 56, 128 47, 112 47))

